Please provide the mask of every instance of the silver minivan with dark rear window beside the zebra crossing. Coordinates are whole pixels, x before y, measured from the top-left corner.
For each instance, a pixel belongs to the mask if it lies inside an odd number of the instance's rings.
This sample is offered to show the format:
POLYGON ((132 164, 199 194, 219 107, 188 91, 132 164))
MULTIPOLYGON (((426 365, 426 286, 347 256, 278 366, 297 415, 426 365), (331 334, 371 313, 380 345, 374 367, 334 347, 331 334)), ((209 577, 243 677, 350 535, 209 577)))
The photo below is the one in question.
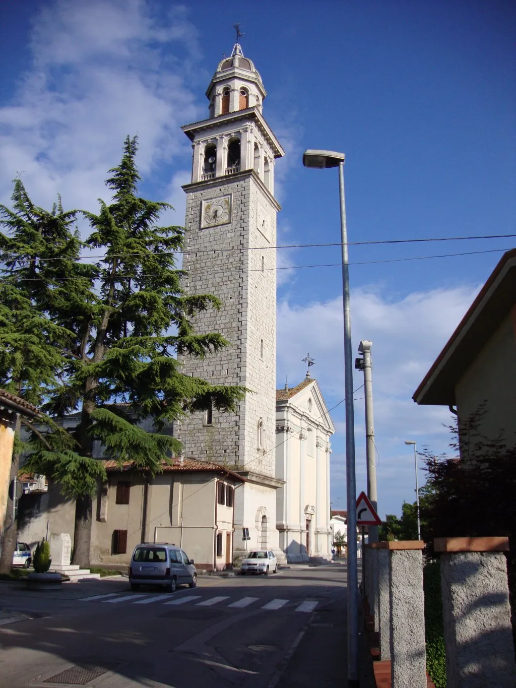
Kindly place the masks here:
POLYGON ((197 571, 193 559, 175 545, 166 542, 142 543, 136 545, 129 566, 131 590, 140 585, 164 585, 174 592, 178 585, 197 585, 197 571))

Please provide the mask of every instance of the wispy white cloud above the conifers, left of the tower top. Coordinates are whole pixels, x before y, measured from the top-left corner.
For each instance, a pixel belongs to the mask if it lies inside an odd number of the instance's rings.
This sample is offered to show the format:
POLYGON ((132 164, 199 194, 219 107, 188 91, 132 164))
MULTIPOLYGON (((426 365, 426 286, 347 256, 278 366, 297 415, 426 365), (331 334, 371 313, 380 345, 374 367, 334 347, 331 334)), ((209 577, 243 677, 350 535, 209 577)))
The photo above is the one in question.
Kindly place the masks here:
POLYGON ((61 193, 65 208, 94 210, 128 133, 140 139, 144 179, 160 163, 187 164, 180 125, 200 114, 185 82, 198 58, 196 30, 182 8, 165 17, 149 8, 58 0, 35 14, 32 65, 0 109, 1 202, 22 173, 37 204, 49 207, 61 193))

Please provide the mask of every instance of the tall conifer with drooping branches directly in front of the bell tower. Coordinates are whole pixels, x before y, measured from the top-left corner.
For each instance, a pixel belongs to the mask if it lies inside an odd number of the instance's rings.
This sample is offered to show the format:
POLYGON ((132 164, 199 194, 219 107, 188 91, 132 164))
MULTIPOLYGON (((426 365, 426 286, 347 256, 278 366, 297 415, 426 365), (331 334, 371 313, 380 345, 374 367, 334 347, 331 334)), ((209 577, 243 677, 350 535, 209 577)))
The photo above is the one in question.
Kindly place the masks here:
POLYGON ((67 257, 52 268, 61 270, 52 275, 61 288, 49 294, 42 286, 34 296, 73 338, 61 347, 58 383, 45 390, 43 410, 52 421, 32 433, 27 465, 76 498, 73 563, 80 566, 89 564, 92 494, 105 480, 102 462, 93 458, 94 440, 110 458, 155 475, 180 451, 166 434, 173 420, 210 405, 234 411, 245 394, 242 387, 210 385, 180 372, 176 354, 203 357, 228 344, 217 333, 195 334, 191 323, 196 312, 221 304, 209 294, 182 291, 175 255, 183 229, 158 226, 169 204, 138 197, 137 148, 137 138, 128 136, 120 165, 109 171, 111 204, 100 200, 98 214, 84 212, 92 227, 86 244, 103 257, 89 266, 67 257), (58 420, 72 412, 78 422, 65 431, 58 420), (138 425, 149 416, 152 433, 138 425))

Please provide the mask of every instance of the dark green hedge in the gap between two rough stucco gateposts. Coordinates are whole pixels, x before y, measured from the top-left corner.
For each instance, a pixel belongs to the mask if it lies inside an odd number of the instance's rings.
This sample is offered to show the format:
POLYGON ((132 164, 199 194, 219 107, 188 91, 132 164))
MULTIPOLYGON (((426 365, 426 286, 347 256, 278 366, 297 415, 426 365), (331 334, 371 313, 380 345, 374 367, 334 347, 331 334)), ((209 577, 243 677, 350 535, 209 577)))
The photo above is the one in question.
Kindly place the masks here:
POLYGON ((424 635, 427 639, 427 671, 436 688, 446 688, 446 654, 442 635, 440 561, 430 561, 423 570, 424 635))

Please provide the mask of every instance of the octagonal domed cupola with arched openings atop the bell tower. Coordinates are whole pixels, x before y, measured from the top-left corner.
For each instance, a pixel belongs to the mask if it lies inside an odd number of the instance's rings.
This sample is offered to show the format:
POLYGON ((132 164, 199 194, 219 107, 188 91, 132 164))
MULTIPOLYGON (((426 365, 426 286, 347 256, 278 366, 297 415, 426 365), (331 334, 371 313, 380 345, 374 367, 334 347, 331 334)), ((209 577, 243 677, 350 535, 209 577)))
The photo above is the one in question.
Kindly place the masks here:
POLYGON ((235 43, 230 57, 224 57, 213 74, 206 97, 210 117, 256 107, 261 112, 267 93, 252 61, 244 57, 240 43, 235 43))

